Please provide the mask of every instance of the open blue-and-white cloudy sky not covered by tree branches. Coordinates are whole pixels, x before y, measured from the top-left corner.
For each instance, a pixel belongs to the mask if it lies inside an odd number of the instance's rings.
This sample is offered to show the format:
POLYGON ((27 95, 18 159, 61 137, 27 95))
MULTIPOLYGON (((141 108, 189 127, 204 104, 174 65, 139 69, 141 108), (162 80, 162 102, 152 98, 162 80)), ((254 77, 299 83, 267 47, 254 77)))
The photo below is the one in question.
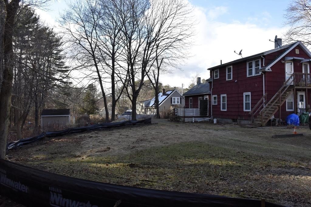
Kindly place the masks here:
MULTIPOLYGON (((50 2, 49 10, 37 10, 41 18, 54 28, 59 13, 66 9, 65 0, 50 2)), ((246 57, 274 48, 275 35, 282 38, 286 27, 285 10, 290 1, 204 1, 190 0, 197 24, 194 25, 194 45, 191 57, 173 74, 160 77, 171 86, 186 87, 197 72, 202 79, 209 78, 207 68, 238 59, 234 51, 241 49, 246 57)))

